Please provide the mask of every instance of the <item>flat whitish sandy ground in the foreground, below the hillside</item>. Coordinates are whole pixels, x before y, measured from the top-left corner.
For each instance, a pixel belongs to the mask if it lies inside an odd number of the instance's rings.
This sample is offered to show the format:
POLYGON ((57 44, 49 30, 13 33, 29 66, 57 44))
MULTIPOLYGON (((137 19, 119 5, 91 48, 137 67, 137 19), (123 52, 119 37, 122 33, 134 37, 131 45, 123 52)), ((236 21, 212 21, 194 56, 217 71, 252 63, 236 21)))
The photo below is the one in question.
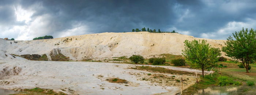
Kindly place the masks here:
MULTIPOLYGON (((40 87, 80 95, 151 95, 163 92, 175 94, 180 91, 180 83, 173 80, 166 85, 159 82, 160 79, 154 80, 147 73, 166 77, 176 76, 176 79, 181 77, 189 79, 184 81, 185 86, 195 82, 193 75, 173 75, 127 69, 135 66, 138 65, 105 62, 1 60, 0 88, 40 87), (125 84, 106 81, 106 79, 116 77, 129 82, 125 84), (142 80, 143 78, 147 80, 142 80)), ((191 71, 188 68, 176 70, 191 71)), ((162 80, 165 81, 165 79, 162 80)))

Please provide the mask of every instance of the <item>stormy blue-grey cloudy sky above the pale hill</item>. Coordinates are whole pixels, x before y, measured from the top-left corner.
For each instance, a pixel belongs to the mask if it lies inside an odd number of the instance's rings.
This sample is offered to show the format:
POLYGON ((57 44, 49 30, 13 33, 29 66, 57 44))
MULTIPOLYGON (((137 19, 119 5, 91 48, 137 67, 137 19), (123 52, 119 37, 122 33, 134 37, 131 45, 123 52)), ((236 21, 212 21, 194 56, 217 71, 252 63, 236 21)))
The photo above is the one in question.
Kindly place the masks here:
POLYGON ((256 28, 255 0, 0 0, 0 38, 32 40, 148 27, 226 39, 256 28))

